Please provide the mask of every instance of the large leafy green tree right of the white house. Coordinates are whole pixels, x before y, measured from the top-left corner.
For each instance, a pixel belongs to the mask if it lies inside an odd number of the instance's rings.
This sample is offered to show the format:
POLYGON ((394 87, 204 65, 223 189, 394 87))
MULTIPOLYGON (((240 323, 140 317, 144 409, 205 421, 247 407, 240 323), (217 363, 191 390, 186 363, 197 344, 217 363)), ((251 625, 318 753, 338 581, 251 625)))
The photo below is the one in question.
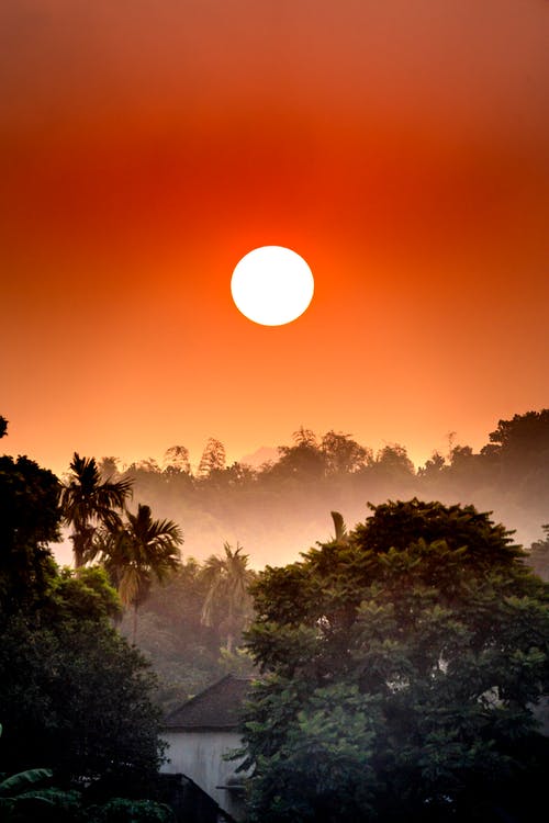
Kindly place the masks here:
POLYGON ((547 586, 472 506, 371 508, 253 586, 249 820, 534 820, 547 586))

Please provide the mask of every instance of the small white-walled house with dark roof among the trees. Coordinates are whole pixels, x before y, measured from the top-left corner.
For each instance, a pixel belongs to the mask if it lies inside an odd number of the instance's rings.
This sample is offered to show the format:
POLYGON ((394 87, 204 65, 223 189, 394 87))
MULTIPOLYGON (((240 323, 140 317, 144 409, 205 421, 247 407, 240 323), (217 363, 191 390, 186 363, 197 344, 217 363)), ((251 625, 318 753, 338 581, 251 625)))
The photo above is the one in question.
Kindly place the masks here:
POLYGON ((238 722, 251 678, 227 675, 166 718, 167 774, 193 780, 235 820, 243 816, 243 777, 238 763, 224 759, 240 745, 238 722))

